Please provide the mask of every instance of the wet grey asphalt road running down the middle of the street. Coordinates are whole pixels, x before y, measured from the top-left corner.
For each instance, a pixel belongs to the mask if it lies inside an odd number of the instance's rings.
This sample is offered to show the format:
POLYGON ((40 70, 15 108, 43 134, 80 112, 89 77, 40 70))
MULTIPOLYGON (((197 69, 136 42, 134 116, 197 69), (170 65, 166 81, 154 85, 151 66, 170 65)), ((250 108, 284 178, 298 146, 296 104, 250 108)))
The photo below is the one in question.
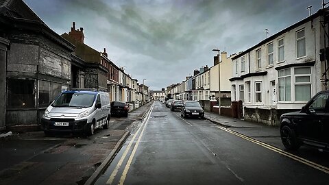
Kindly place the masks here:
POLYGON ((321 165, 210 121, 183 119, 155 101, 149 119, 139 123, 95 184, 328 182, 329 171, 321 165))

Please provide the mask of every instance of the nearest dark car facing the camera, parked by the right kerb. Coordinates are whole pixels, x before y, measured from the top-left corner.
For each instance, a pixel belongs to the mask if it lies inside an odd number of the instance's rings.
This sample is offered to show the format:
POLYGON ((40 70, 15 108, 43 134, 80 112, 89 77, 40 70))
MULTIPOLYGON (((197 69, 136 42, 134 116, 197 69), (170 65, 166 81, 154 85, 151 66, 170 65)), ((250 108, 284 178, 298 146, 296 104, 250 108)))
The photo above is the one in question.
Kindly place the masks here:
POLYGON ((187 117, 200 117, 204 118, 204 109, 200 106, 197 101, 185 101, 184 106, 182 106, 182 111, 180 115, 184 118, 187 117))

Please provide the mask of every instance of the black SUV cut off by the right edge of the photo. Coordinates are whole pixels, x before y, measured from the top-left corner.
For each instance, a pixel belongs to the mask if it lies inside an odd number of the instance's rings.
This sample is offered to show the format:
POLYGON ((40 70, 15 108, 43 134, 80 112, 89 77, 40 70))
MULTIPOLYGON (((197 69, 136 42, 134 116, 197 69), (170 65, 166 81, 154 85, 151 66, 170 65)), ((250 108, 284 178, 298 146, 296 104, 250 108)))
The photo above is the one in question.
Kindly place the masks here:
POLYGON ((282 114, 281 140, 287 149, 301 145, 329 151, 329 90, 317 93, 300 112, 282 114))

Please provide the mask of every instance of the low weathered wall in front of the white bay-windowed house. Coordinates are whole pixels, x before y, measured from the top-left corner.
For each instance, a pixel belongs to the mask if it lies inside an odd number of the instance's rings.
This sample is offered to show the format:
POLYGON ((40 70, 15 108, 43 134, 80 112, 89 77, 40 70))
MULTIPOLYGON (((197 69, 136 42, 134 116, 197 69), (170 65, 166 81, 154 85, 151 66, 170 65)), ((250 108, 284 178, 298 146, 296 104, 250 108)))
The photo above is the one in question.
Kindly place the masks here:
POLYGON ((245 120, 256 123, 265 123, 266 125, 280 125, 280 116, 287 112, 295 112, 295 109, 265 109, 265 108, 244 108, 245 120))

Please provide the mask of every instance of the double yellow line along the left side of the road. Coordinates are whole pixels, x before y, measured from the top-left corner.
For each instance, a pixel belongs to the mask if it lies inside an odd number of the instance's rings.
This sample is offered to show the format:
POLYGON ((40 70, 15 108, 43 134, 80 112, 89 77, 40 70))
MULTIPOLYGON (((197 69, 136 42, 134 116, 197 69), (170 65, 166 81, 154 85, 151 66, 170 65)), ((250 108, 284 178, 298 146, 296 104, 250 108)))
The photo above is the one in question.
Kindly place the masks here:
POLYGON ((132 164, 132 159, 134 158, 134 155, 136 153, 136 150, 138 148, 138 145, 141 142, 141 138, 142 138, 142 136, 144 134, 145 127, 146 127, 147 123, 149 122, 149 117, 151 116, 151 112, 152 112, 153 108, 154 108, 154 105, 152 105, 151 108, 149 109, 149 112, 147 113, 147 119, 145 119, 145 121, 143 121, 141 127, 138 128, 137 132, 132 137, 132 140, 130 140, 130 143, 128 144, 127 148, 123 152, 123 155, 121 156, 121 158, 120 158, 117 166, 114 168, 112 174, 108 178, 108 181, 106 182, 106 184, 112 184, 113 183, 114 177, 119 172, 119 169, 120 169, 121 165, 123 164, 123 160, 125 160, 125 157, 127 156, 128 151, 132 147, 132 143, 134 143, 134 140, 135 140, 136 136, 142 130, 141 134, 139 134, 139 136, 138 136, 138 139, 136 141, 136 145, 134 146, 134 149, 132 149, 132 153, 130 154, 130 158, 128 159, 127 164, 125 164, 125 169, 123 169, 123 173, 121 175, 119 184, 123 184, 123 182, 125 182, 125 178, 127 177, 127 173, 128 173, 128 171, 130 169, 130 165, 132 164))

